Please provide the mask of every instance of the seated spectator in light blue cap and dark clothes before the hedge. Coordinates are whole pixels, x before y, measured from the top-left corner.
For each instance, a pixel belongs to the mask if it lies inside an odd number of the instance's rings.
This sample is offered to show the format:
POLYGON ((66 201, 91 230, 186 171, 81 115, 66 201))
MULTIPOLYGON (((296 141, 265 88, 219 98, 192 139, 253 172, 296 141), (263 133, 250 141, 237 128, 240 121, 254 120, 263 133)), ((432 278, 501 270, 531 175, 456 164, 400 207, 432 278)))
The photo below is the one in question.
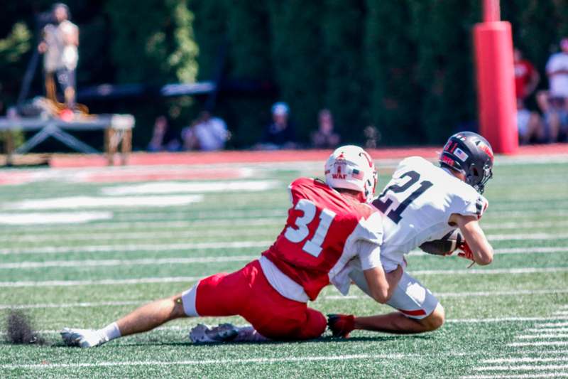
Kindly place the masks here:
POLYGON ((264 130, 257 149, 295 149, 296 134, 289 114, 290 108, 285 102, 276 102, 272 106, 272 122, 264 130))

